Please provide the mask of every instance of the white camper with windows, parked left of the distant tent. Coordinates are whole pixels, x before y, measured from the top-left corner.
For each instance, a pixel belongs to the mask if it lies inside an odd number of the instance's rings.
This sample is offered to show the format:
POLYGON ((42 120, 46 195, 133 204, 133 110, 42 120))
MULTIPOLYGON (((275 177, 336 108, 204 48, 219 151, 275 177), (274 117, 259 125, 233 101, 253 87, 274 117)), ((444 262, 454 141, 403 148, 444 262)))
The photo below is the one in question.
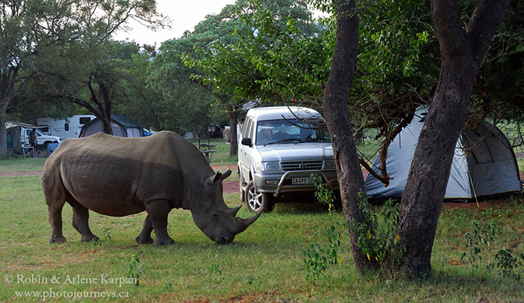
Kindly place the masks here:
POLYGON ((41 118, 37 119, 36 123, 38 125, 49 126, 48 131, 45 131, 45 133, 55 135, 61 138, 61 140, 64 140, 68 138, 78 138, 82 126, 95 118, 92 114, 77 114, 76 116, 61 120, 41 118))

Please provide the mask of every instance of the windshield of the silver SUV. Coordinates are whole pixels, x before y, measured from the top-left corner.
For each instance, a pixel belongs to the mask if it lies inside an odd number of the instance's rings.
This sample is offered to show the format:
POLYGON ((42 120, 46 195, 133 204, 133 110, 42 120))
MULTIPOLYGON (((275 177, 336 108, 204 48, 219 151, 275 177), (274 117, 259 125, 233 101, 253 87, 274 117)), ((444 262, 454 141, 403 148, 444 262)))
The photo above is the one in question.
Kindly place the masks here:
POLYGON ((330 142, 328 128, 321 119, 278 119, 259 121, 256 145, 330 142))

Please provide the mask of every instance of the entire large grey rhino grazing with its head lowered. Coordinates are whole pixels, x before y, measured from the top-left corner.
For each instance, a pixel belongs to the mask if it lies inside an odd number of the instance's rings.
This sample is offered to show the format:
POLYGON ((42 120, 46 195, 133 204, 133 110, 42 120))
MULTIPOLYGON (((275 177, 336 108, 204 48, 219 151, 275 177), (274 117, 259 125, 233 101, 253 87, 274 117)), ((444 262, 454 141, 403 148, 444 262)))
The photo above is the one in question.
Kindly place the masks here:
POLYGON ((231 243, 259 218, 236 218, 222 198, 231 175, 213 172, 203 154, 179 135, 162 131, 146 138, 97 133, 68 139, 45 162, 42 187, 52 227, 50 243, 66 242, 61 210, 73 207, 73 227, 82 241, 98 239, 89 229, 89 209, 108 216, 146 211, 139 244, 173 244, 167 232, 173 208, 191 210, 196 226, 218 244, 231 243), (156 239, 152 239, 154 230, 156 239))

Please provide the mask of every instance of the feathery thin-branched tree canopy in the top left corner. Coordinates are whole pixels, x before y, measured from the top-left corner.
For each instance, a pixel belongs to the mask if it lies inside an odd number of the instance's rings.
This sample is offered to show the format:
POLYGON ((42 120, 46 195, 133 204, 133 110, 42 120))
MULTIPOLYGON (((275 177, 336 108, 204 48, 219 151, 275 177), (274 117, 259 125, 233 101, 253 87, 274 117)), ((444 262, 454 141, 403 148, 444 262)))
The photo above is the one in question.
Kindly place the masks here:
POLYGON ((92 71, 95 61, 89 59, 99 54, 97 47, 105 45, 116 29, 131 19, 151 27, 163 24, 154 0, 3 1, 0 13, 0 154, 7 151, 8 105, 21 94, 48 97, 28 94, 28 85, 38 75, 64 80, 63 68, 72 68, 67 82, 89 82, 89 77, 80 79, 92 71))

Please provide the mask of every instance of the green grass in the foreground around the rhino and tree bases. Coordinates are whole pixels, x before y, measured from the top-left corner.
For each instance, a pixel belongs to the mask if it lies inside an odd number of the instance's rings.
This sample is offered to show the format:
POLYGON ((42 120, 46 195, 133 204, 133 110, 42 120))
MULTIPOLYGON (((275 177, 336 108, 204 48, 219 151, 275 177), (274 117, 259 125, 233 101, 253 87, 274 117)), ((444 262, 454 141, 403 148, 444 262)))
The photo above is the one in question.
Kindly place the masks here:
MULTIPOLYGON (((272 214, 263 214, 233 244, 217 245, 198 230, 191 213, 173 209, 168 231, 175 239, 171 246, 138 245, 145 214, 123 218, 91 212, 90 225, 101 245, 81 243, 71 227, 71 207, 64 207, 66 244, 48 244, 50 226, 39 177, 0 177, 0 302, 36 302, 17 298, 15 291, 94 292, 128 295, 109 302, 523 302, 521 281, 503 279, 486 269, 474 269, 460 255, 465 249, 470 222, 487 224, 495 220, 500 233, 488 247, 486 263, 501 248, 524 252, 524 201, 506 199, 493 207, 478 209, 444 208, 432 266, 434 276, 425 281, 383 281, 356 274, 343 232, 342 264, 330 266, 323 278, 305 279, 303 250, 312 243, 326 245, 330 216, 320 205, 282 204, 272 214), (104 230, 110 231, 103 237, 104 230), (67 276, 99 279, 101 275, 126 278, 129 256, 140 259, 140 286, 91 281, 64 283, 67 276), (48 279, 43 283, 17 283, 17 278, 48 279), (5 283, 8 276, 15 282, 5 283), (59 283, 52 283, 52 277, 59 283)), ((238 194, 225 195, 228 205, 239 205, 238 194)), ((242 217, 250 214, 242 209, 242 217)), ((524 273, 523 273, 524 274, 524 273)), ((100 299, 101 301, 106 298, 100 299)), ((99 302, 91 298, 78 302, 99 302)), ((45 302, 72 302, 51 298, 45 302)), ((40 301, 43 302, 43 301, 40 301)))

